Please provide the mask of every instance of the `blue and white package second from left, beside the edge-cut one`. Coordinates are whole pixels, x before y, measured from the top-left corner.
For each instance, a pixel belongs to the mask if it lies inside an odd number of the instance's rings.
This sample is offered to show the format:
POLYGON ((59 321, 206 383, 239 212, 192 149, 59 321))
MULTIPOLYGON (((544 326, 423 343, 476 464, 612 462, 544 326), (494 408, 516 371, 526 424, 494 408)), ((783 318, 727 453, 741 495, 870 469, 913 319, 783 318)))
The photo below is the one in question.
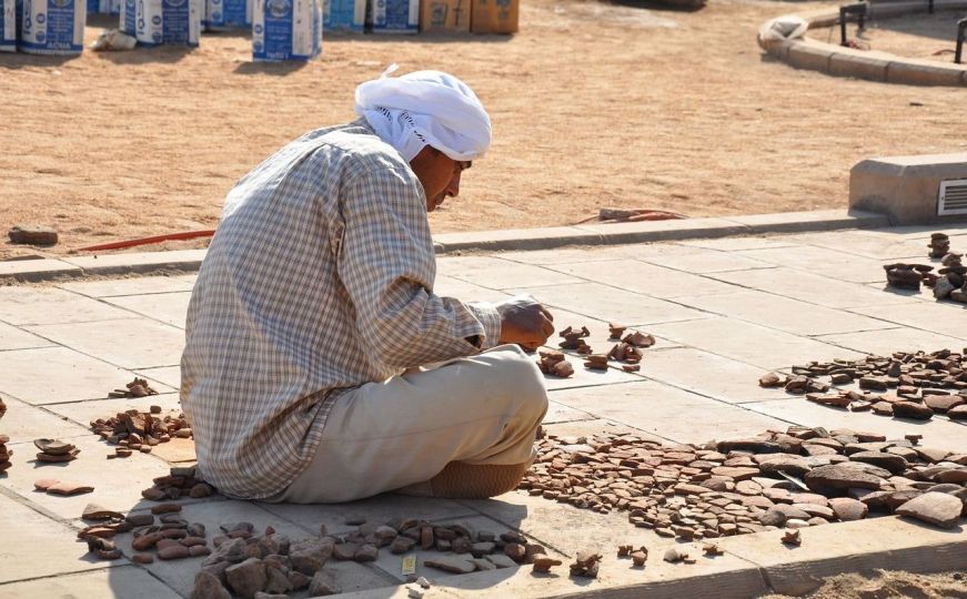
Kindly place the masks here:
POLYGON ((80 54, 87 16, 87 0, 23 0, 17 49, 28 54, 80 54))

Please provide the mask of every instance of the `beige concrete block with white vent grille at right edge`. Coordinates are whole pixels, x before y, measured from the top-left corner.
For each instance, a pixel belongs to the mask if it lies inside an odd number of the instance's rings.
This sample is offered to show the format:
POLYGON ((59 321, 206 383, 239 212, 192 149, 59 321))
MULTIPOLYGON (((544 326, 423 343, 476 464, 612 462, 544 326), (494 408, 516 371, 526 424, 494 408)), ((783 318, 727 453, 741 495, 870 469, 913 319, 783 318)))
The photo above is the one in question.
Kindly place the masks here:
POLYGON ((937 216, 940 182, 956 179, 967 179, 965 152, 864 160, 849 171, 849 207, 886 214, 894 225, 963 221, 937 216))

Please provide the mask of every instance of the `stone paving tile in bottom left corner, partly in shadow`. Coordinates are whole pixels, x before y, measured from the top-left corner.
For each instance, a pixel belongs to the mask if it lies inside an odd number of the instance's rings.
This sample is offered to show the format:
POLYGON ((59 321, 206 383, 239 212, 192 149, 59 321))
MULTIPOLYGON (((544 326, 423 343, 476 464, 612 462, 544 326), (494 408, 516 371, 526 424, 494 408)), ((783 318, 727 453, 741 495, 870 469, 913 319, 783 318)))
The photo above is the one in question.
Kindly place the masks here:
MULTIPOLYGON (((79 550, 83 547, 78 545, 79 550)), ((137 566, 117 566, 92 572, 63 575, 50 578, 11 582, 0 587, 8 599, 34 597, 150 597, 151 599, 181 599, 168 585, 159 581, 137 566)))

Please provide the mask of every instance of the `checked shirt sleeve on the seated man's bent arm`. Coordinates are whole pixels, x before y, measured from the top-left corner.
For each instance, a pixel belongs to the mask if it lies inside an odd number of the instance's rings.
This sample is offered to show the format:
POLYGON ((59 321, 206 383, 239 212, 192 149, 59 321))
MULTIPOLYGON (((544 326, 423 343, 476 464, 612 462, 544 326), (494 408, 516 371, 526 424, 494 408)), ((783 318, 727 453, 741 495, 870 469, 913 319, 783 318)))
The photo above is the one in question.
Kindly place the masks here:
POLYGON ((385 167, 357 176, 343 190, 341 211, 339 274, 375 357, 411 368, 496 344, 496 311, 432 292, 436 256, 423 190, 412 173, 385 167), (480 346, 467 341, 474 336, 480 346))

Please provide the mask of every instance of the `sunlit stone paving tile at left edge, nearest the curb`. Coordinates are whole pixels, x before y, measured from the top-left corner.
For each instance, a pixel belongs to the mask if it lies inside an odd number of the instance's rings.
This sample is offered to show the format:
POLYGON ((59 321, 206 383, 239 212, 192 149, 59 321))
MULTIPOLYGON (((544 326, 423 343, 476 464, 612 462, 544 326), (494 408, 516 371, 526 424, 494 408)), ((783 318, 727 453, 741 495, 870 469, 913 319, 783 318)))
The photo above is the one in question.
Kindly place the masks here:
POLYGON ((46 325, 132 318, 133 314, 98 300, 53 287, 0 287, 0 321, 46 325))

